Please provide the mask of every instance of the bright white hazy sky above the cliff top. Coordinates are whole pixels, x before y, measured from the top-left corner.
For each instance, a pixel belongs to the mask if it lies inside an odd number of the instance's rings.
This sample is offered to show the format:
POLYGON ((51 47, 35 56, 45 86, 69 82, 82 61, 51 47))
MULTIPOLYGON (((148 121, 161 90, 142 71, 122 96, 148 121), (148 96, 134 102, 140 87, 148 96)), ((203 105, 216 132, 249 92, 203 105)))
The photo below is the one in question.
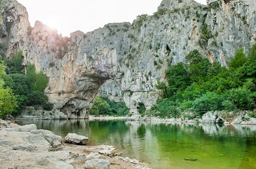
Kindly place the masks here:
MULTIPOLYGON (((28 11, 33 27, 36 20, 56 29, 62 36, 84 33, 108 23, 131 22, 140 14, 152 15, 162 0, 17 0, 28 11)), ((206 0, 196 0, 206 4, 206 0)))

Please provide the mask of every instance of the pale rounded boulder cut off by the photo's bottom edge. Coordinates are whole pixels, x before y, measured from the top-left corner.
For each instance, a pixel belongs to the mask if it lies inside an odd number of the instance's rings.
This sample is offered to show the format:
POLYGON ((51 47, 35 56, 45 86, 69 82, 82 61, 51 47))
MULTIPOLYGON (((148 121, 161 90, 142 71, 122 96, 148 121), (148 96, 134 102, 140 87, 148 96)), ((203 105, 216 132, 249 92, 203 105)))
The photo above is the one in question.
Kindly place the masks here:
POLYGON ((91 159, 84 164, 86 169, 109 169, 110 162, 106 159, 91 159))

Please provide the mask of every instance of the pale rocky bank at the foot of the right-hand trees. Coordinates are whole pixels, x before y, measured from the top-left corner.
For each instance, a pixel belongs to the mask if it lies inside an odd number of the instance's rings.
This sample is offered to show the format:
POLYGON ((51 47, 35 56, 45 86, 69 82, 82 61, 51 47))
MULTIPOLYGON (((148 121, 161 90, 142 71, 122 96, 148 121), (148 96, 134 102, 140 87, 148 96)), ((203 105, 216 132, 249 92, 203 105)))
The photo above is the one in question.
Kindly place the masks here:
POLYGON ((227 112, 227 111, 209 111, 202 118, 192 118, 192 112, 185 112, 180 117, 161 118, 152 116, 141 116, 134 114, 127 116, 130 121, 156 121, 156 122, 186 122, 186 123, 224 123, 224 124, 256 124, 256 118, 250 117, 251 111, 227 112))

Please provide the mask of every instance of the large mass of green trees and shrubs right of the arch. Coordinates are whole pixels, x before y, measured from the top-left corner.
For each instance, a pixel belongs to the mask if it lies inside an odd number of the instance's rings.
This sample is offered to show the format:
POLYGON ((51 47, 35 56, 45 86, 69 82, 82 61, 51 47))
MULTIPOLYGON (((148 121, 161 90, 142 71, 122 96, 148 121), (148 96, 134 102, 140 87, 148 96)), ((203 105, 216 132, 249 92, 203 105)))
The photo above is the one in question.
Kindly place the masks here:
POLYGON ((166 70, 168 85, 158 81, 162 99, 152 107, 154 116, 180 116, 192 111, 202 116, 211 110, 254 110, 256 108, 256 45, 246 56, 236 51, 229 69, 210 63, 193 50, 185 57, 188 64, 178 63, 166 70))

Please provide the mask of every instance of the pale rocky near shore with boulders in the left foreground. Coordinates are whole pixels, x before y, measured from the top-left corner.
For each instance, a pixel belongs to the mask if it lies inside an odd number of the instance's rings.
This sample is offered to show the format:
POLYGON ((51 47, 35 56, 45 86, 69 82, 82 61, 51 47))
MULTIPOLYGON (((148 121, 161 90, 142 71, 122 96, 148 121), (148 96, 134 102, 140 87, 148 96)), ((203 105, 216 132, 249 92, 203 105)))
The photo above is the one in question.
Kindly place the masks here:
POLYGON ((136 159, 118 156, 114 146, 86 146, 86 139, 76 134, 63 139, 52 131, 37 130, 35 124, 1 120, 0 168, 148 168, 136 159))

